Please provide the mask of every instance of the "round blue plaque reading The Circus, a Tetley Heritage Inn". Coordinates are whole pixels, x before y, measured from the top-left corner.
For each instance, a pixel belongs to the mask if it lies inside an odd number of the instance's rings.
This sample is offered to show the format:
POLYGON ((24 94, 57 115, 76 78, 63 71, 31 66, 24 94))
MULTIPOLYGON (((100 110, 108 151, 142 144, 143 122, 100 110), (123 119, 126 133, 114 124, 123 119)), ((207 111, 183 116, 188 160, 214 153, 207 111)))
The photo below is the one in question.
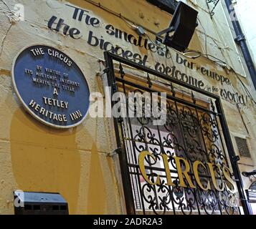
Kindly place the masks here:
POLYGON ((60 50, 27 47, 14 59, 11 73, 17 96, 37 120, 70 128, 85 119, 90 89, 77 64, 60 50))

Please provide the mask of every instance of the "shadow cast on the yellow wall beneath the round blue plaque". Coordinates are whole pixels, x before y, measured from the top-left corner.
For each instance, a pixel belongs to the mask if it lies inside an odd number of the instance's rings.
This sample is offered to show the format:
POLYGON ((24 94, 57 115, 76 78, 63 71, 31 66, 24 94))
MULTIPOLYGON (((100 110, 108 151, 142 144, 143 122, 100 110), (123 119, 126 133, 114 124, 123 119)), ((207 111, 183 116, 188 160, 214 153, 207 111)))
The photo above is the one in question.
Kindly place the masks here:
MULTIPOLYGON (((93 143, 87 180, 80 180, 80 152, 73 130, 54 130, 17 109, 11 120, 11 164, 19 187, 24 191, 60 193, 70 214, 104 213, 106 196, 98 149, 93 143), (87 190, 87 206, 77 210, 80 185, 87 190), (87 186, 87 187, 86 187, 87 186)), ((87 134, 87 133, 86 133, 87 134)), ((94 142, 92 140, 92 142, 94 142)), ((90 142, 90 144, 92 144, 90 142)), ((84 198, 82 198, 84 200, 84 198)))

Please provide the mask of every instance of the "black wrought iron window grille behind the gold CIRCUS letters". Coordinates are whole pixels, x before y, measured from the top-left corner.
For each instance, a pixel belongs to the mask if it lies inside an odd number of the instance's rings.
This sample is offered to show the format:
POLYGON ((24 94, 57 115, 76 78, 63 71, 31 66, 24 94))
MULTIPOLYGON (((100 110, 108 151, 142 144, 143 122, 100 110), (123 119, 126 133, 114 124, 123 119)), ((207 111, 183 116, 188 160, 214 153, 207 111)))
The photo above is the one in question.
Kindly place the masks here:
MULTIPOLYGON (((155 118, 146 117, 145 112, 142 117, 115 118, 115 135, 121 149, 119 158, 127 212, 158 215, 240 214, 238 205, 242 203, 245 213, 248 213, 240 172, 236 162, 232 160, 234 149, 219 97, 108 52, 105 52, 105 61, 105 72, 108 74, 112 94, 167 94, 167 118, 164 125, 153 125, 155 118), (146 77, 133 77, 132 74, 125 73, 124 69, 133 69, 131 72, 138 70, 139 74, 145 72, 146 77), (182 88, 191 95, 182 94, 182 88), (151 152, 156 158, 152 160, 151 157, 146 157, 145 167, 151 182, 155 182, 157 176, 160 177, 159 185, 149 184, 141 175, 138 155, 143 151, 151 152), (169 172, 175 186, 166 185, 167 175, 160 157, 162 154, 169 158, 169 172), (196 185, 194 173, 191 171, 188 174, 196 188, 189 187, 186 179, 188 187, 179 187, 174 161, 176 156, 186 159, 190 168, 196 160, 205 165, 211 162, 214 165, 216 183, 219 187, 223 186, 224 190, 203 190, 196 185), (218 165, 229 167, 233 171, 238 193, 233 194, 227 190, 230 183, 226 182, 227 186, 224 185, 218 165)), ((160 98, 160 94, 158 97, 160 98)), ((131 109, 136 112, 138 108, 131 108, 128 103, 125 106, 130 112, 131 109)), ((184 168, 184 165, 181 167, 184 168)), ((209 170, 203 167, 199 167, 199 177, 204 185, 207 180, 212 179, 209 170)))

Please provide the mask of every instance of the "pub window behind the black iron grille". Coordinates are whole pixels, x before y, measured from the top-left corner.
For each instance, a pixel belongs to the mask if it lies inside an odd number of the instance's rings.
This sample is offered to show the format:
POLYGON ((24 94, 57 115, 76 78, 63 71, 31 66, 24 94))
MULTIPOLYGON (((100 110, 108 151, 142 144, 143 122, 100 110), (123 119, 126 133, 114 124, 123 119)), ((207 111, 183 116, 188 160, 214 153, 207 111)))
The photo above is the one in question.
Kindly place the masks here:
MULTIPOLYGON (((125 74, 124 77, 116 72, 115 77, 118 92, 124 92, 126 95, 129 92, 136 92, 140 97, 148 88, 146 79, 132 74, 125 74)), ((173 95, 169 87, 161 84, 161 82, 150 85, 148 91, 166 92, 167 97, 173 95)), ((149 93, 148 96, 151 94, 149 93)), ((214 166, 216 165, 214 176, 219 188, 224 185, 222 171, 219 170, 219 167, 228 167, 229 165, 221 140, 222 136, 218 129, 217 116, 214 115, 214 112, 207 112, 211 110, 209 100, 191 99, 188 94, 178 91, 176 91, 175 97, 179 102, 172 99, 166 101, 167 117, 164 125, 153 125, 152 118, 146 117, 145 113, 143 117, 125 117, 120 122, 136 213, 198 214, 200 212, 200 214, 229 214, 237 212, 237 208, 233 208, 233 205, 229 205, 230 203, 224 200, 225 197, 229 196, 232 197, 232 203, 237 203, 235 195, 232 196, 227 192, 204 192, 199 190, 199 187, 196 187, 196 190, 178 186, 179 177, 174 157, 186 159, 190 167, 195 161, 212 162, 214 166), (196 106, 194 107, 193 104, 196 106), (166 170, 164 170, 161 154, 171 156, 169 170, 171 171, 172 182, 176 187, 168 187, 163 184, 148 185, 138 169, 138 157, 143 151, 150 152, 156 158, 156 161, 151 157, 146 157, 144 160, 146 174, 151 182, 156 182, 157 176, 166 182, 166 170), (223 201, 223 206, 218 202, 219 198, 223 201)), ((141 101, 141 105, 143 105, 145 99, 141 101)), ((132 112, 136 112, 138 108, 141 107, 128 106, 128 110, 133 109, 132 112)), ((184 168, 184 165, 181 167, 184 168)), ((189 177, 191 182, 195 184, 194 175, 189 173, 189 177)), ((207 181, 211 177, 209 170, 199 167, 199 177, 206 187, 207 181)), ((185 182, 186 185, 189 185, 186 179, 185 182)), ((229 183, 227 185, 230 186, 229 183)))

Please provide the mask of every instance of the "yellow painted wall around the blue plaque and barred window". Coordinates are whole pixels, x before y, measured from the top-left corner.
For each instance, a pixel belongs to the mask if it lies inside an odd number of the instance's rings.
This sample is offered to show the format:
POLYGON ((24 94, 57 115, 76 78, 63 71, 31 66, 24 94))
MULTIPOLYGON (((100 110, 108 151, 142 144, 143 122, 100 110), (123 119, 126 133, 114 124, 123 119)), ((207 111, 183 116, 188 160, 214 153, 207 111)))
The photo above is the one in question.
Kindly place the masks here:
MULTIPOLYGON (((70 0, 68 2, 87 9, 90 11, 90 15, 97 16, 102 23, 98 29, 72 20, 72 10, 65 6, 67 1, 11 0, 6 1, 6 4, 11 8, 17 2, 25 6, 25 21, 11 21, 8 14, 9 9, 2 2, 0 3, 0 213, 14 213, 13 191, 17 189, 61 193, 69 203, 71 214, 125 213, 123 196, 120 195, 122 190, 120 189, 118 160, 115 157, 107 156, 108 152, 115 150, 115 137, 110 120, 93 119, 87 116, 82 125, 70 130, 55 130, 42 125, 23 109, 14 94, 11 86, 12 60, 20 49, 29 44, 39 43, 54 46, 77 63, 85 74, 91 92, 102 91, 102 82, 96 77, 96 74, 103 69, 98 62, 98 59, 103 59, 103 51, 87 44, 89 30, 92 30, 95 36, 103 36, 104 39, 118 44, 124 49, 148 54, 150 63, 165 62, 166 60, 146 52, 145 49, 135 48, 127 42, 105 34, 103 29, 106 24, 113 24, 118 29, 131 34, 135 34, 135 32, 122 19, 87 1, 70 0), (47 21, 52 15, 62 17, 70 26, 79 28, 82 31, 82 38, 75 40, 70 36, 63 36, 56 31, 49 30, 47 21)), ((99 2, 152 31, 166 29, 171 19, 169 14, 160 11, 144 0, 102 0, 99 2)), ((201 5, 197 6, 197 9, 202 18, 207 21, 208 16, 202 10, 205 6, 201 1, 198 2, 201 5)), ((217 12, 223 19, 222 9, 217 9, 217 12)), ((212 21, 212 24, 217 26, 216 21, 212 21)), ((247 74, 242 64, 237 62, 237 57, 240 54, 236 47, 233 47, 234 44, 230 42, 231 34, 226 31, 229 29, 228 25, 219 25, 223 33, 226 33, 221 36, 216 32, 222 33, 218 29, 209 29, 212 28, 212 24, 207 26, 209 36, 216 39, 223 47, 224 40, 227 40, 227 43, 230 43, 230 49, 224 51, 224 56, 227 57, 229 64, 236 67, 237 72, 247 74), (223 36, 229 39, 223 40, 223 36)), ((203 52, 204 36, 199 30, 198 28, 194 35, 191 48, 200 49, 203 52)), ((153 39, 152 34, 149 33, 148 36, 153 39)), ((219 55, 218 48, 214 49, 210 44, 208 45, 209 53, 219 55)), ((176 53, 171 52, 175 57, 176 53)), ((209 59, 200 58, 194 62, 209 67, 209 69, 215 69, 229 77, 234 84, 234 89, 245 94, 234 74, 227 75, 224 69, 209 59)), ((182 66, 179 68, 187 74, 193 74, 198 79, 204 79, 209 85, 220 86, 219 82, 215 82, 213 79, 191 72, 182 66)), ((242 81, 250 88, 252 94, 255 94, 248 74, 247 78, 242 77, 242 81)), ((224 99, 222 99, 222 103, 232 136, 240 134, 247 137, 253 160, 247 162, 247 165, 250 164, 249 167, 242 167, 242 169, 251 170, 256 165, 255 106, 250 104, 248 107, 242 108, 242 115, 244 115, 250 131, 247 134, 236 105, 224 99)), ((237 149, 235 150, 239 154, 237 149)), ((249 184, 248 180, 245 182, 247 185, 249 184)))

